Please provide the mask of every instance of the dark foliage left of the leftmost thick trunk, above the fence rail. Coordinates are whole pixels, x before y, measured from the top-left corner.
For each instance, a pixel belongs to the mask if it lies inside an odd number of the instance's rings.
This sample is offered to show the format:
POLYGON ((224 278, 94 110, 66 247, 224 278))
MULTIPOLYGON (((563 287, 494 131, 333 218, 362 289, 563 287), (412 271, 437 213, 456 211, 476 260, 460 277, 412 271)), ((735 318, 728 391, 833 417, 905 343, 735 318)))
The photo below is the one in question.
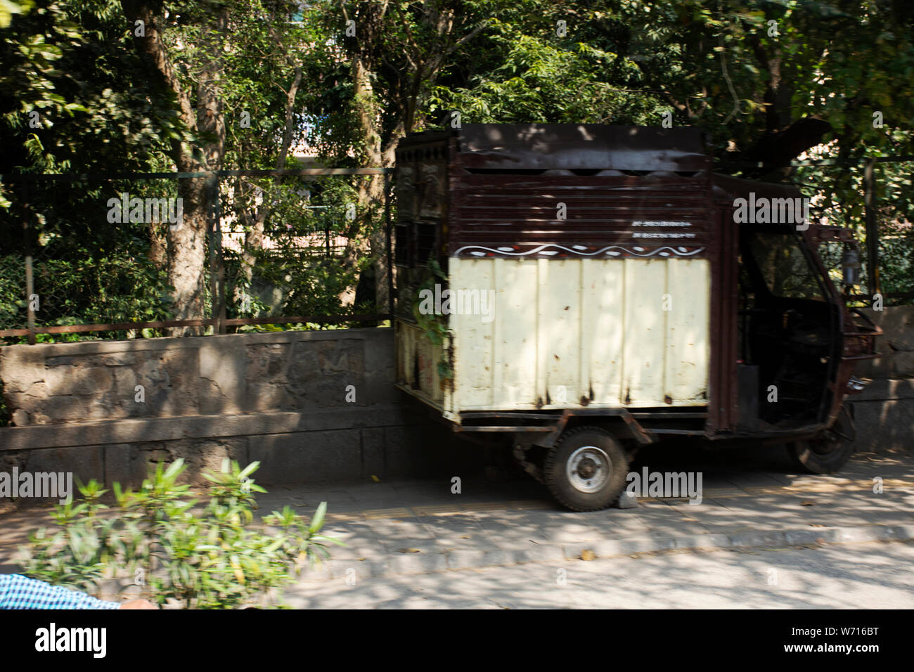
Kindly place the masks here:
POLYGON ((184 132, 116 0, 42 0, 0 29, 0 172, 143 170, 184 132))

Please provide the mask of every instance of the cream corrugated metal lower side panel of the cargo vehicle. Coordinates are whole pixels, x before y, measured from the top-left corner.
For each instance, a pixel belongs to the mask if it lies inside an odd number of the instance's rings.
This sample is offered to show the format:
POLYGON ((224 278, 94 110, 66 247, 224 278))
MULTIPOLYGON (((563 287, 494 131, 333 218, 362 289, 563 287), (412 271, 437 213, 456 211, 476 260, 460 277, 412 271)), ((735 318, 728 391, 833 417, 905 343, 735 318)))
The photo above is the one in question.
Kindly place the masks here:
POLYGON ((450 260, 453 411, 707 403, 705 259, 450 260), (481 312, 481 311, 480 311, 481 312))

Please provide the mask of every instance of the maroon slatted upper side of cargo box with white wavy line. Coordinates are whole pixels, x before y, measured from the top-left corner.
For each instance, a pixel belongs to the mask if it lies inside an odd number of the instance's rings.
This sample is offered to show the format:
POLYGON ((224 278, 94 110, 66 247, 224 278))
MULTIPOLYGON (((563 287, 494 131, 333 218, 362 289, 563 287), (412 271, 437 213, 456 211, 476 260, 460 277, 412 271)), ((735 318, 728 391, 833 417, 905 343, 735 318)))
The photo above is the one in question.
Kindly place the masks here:
POLYGON ((708 256, 714 236, 707 174, 601 173, 611 175, 473 175, 452 168, 448 255, 708 256), (565 219, 558 219, 562 205, 565 219))

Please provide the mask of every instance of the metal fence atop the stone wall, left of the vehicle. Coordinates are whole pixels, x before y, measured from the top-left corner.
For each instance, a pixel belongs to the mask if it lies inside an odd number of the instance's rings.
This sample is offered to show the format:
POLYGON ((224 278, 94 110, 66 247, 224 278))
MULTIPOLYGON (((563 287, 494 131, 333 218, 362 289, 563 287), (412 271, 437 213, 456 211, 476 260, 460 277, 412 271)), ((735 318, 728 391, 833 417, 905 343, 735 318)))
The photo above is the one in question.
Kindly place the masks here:
POLYGON ((225 334, 261 325, 377 324, 389 318, 392 295, 391 172, 0 176, 12 202, 0 209, 0 338, 36 343, 87 337, 80 334, 165 336, 187 327, 225 334), (167 228, 183 214, 178 181, 185 179, 207 183, 206 259, 197 315, 174 319, 163 269, 173 252, 167 228), (384 202, 356 214, 359 179, 383 179, 384 202), (387 292, 361 283, 346 301, 360 272, 370 278, 375 267, 386 277, 368 285, 386 283, 387 292))

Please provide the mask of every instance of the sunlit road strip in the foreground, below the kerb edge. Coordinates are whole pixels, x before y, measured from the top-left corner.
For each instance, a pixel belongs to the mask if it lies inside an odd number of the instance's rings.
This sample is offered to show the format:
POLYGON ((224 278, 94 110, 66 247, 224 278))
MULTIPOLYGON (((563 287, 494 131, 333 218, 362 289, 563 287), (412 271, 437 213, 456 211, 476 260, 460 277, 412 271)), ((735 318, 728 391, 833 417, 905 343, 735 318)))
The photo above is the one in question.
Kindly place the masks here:
POLYGON ((302 581, 286 598, 309 609, 911 609, 912 568, 914 543, 874 542, 356 575, 302 581))

